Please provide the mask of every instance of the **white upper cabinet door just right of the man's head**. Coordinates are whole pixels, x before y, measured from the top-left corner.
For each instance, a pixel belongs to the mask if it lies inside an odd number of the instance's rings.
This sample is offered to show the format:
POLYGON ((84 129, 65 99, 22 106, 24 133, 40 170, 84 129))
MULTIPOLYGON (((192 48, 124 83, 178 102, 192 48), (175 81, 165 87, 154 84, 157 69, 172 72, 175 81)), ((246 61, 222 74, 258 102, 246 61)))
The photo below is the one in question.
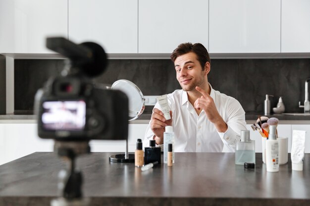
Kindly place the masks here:
POLYGON ((280 52, 280 6, 280 0, 209 0, 209 52, 280 52))

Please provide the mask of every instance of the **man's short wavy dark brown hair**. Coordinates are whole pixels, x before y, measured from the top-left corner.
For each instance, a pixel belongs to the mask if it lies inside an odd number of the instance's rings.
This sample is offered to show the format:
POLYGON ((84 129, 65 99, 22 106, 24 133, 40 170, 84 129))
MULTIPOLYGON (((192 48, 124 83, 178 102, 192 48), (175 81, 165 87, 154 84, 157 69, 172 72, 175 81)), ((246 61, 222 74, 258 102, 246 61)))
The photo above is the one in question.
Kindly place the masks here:
POLYGON ((206 47, 201 43, 181 43, 176 49, 174 49, 170 58, 172 62, 174 62, 178 56, 187 54, 189 52, 194 52, 197 55, 198 61, 200 62, 203 70, 205 70, 205 65, 207 62, 211 63, 209 53, 207 52, 206 47))

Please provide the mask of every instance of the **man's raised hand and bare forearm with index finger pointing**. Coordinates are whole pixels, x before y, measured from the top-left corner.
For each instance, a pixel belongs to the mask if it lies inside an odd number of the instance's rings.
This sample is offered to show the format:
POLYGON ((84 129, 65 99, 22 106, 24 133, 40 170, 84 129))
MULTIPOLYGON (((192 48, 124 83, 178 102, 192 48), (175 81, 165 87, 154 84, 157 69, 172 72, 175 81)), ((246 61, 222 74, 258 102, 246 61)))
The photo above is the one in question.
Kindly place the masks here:
POLYGON ((194 107, 198 110, 203 109, 205 111, 208 120, 215 125, 217 131, 225 132, 228 126, 218 114, 213 98, 199 86, 196 86, 196 90, 203 96, 196 99, 194 107))

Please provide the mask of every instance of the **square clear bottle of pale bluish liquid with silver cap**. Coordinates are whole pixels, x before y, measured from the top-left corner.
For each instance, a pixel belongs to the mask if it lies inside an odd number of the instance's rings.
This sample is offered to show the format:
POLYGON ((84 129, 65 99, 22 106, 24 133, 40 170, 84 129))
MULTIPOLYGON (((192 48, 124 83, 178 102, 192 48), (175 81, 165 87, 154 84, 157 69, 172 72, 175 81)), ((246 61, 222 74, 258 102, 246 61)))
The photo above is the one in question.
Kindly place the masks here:
POLYGON ((241 130, 241 139, 236 145, 235 163, 236 165, 255 164, 255 140, 250 139, 249 130, 241 130))

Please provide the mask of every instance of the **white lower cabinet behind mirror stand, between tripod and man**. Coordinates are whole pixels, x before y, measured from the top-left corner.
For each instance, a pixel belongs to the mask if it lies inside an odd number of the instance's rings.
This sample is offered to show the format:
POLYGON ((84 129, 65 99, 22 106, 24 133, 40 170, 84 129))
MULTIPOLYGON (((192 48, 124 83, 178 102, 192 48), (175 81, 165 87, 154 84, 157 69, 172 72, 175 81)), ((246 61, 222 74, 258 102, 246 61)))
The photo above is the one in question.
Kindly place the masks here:
MULTIPOLYGON (((149 124, 128 124, 128 152, 134 152, 137 139, 143 141, 144 134, 149 124)), ((125 153, 125 140, 92 140, 92 152, 121 152, 125 153)), ((120 154, 121 154, 120 153, 120 154)))

